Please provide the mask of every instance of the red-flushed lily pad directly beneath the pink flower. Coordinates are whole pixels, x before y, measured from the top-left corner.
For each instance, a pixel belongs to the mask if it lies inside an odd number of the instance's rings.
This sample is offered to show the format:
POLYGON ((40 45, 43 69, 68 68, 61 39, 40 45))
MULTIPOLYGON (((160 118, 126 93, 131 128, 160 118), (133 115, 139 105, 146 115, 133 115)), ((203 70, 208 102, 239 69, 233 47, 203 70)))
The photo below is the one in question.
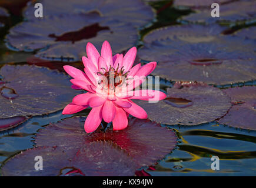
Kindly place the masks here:
POLYGON ((111 142, 132 157, 137 167, 154 164, 174 149, 175 133, 145 119, 129 119, 124 130, 107 132, 98 130, 92 135, 84 132, 84 122, 79 117, 65 119, 39 131, 37 146, 59 146, 79 149, 85 143, 111 142))

